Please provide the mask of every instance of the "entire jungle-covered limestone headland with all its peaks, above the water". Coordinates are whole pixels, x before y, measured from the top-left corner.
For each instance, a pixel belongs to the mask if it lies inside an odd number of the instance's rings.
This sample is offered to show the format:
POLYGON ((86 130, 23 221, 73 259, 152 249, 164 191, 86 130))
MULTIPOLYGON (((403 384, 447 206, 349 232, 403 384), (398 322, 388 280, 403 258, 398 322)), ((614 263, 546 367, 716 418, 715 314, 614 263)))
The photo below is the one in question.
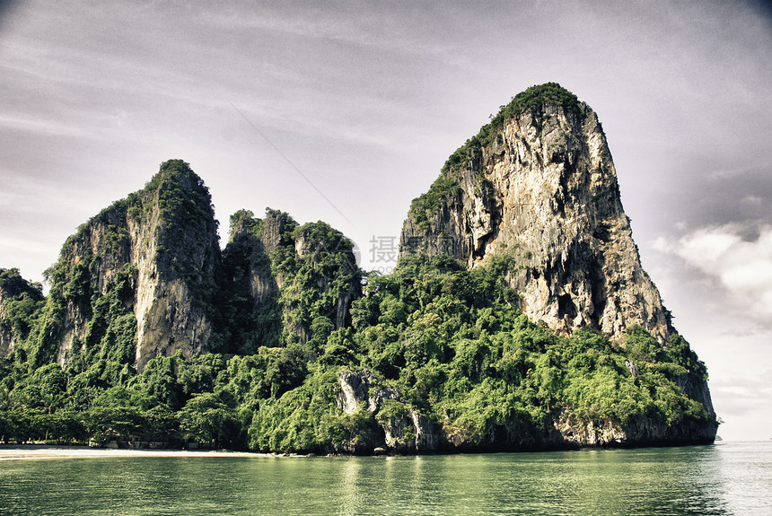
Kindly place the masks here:
POLYGON ((669 313, 646 327, 656 336, 623 317, 656 310, 642 304, 650 280, 615 178, 592 111, 555 83, 531 88, 452 154, 408 214, 411 235, 456 238, 479 259, 417 247, 377 275, 327 223, 272 209, 233 214, 220 249, 203 181, 188 163, 162 163, 66 241, 48 295, 0 269, 0 442, 368 454, 713 442, 706 367, 669 313), (597 173, 579 136, 605 160, 597 173), (496 168, 504 158, 510 168, 496 168), (555 192, 540 184, 549 167, 555 192), (577 186, 569 172, 607 180, 577 186), (494 189, 510 182, 544 202, 491 223, 503 206, 494 189), (515 219, 512 245, 486 250, 515 219), (585 219, 600 225, 569 228, 585 219), (573 332, 529 320, 528 295, 579 321, 561 327, 573 332), (604 306, 621 337, 577 317, 604 306))

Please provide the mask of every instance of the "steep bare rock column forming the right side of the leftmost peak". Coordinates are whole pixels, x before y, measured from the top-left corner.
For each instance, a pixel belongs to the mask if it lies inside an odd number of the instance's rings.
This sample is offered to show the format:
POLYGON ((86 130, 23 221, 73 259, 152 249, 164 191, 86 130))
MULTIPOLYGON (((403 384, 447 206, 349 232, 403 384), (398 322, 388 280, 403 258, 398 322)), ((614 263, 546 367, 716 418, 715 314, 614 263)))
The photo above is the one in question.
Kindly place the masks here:
POLYGON ((220 260, 211 197, 192 171, 162 176, 159 188, 145 192, 141 202, 145 221, 128 219, 130 263, 138 271, 134 311, 139 368, 159 354, 181 350, 189 357, 208 349, 212 325, 206 304, 211 293, 206 290, 214 287, 220 260), (170 191, 171 198, 164 198, 170 191), (181 206, 164 206, 172 203, 181 206))

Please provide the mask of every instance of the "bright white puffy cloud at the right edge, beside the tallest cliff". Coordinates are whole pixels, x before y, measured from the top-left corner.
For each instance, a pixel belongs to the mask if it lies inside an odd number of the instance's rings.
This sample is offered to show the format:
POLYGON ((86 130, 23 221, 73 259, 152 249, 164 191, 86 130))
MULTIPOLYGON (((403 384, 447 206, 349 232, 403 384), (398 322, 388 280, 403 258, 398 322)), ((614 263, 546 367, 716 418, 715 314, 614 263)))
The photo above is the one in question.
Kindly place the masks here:
POLYGON ((654 248, 673 253, 725 294, 723 310, 772 327, 772 225, 727 223, 699 228, 654 248))

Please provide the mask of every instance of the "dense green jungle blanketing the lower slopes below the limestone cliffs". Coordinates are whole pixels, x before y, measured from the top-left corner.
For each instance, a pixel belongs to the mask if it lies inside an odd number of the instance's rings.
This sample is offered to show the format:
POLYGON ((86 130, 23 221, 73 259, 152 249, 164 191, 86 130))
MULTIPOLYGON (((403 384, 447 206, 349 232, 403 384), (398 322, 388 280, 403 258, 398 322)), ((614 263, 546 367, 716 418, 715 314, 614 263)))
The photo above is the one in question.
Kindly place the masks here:
MULTIPOLYGON (((308 263, 286 263, 290 258, 282 253, 287 249, 276 249, 272 264, 296 278, 311 274, 301 273, 308 263)), ((124 345, 135 328, 117 302, 117 277, 111 291, 116 297, 100 298, 106 315, 95 323, 101 339, 92 351, 64 369, 32 363, 22 345, 0 359, 0 436, 5 442, 120 436, 180 446, 327 452, 408 408, 446 433, 469 438, 513 421, 543 432, 550 413, 564 407, 598 424, 605 418, 626 424, 640 415, 669 424, 707 420, 705 407, 676 385, 685 372, 706 375, 682 337, 673 333, 664 348, 637 327, 627 331, 624 345, 590 330, 557 337, 516 309, 517 295, 504 279, 514 265, 501 258, 469 271, 443 256, 403 258, 393 274, 368 277, 343 326, 334 328, 329 306, 317 298, 302 314, 274 320, 284 337, 268 334, 269 345, 260 345, 258 333, 241 353, 189 361, 181 354, 161 356, 141 374, 127 359, 124 345), (310 321, 305 338, 288 337, 286 328, 297 320, 310 321), (626 362, 636 363, 635 377, 626 362), (336 398, 338 372, 346 367, 369 369, 402 398, 376 415, 364 408, 343 413, 336 398)), ((0 287, 20 279, 13 269, 2 277, 0 287)), ((5 303, 3 324, 22 342, 39 333, 45 310, 34 285, 16 292, 5 303)), ((300 300, 317 295, 286 292, 300 300)))

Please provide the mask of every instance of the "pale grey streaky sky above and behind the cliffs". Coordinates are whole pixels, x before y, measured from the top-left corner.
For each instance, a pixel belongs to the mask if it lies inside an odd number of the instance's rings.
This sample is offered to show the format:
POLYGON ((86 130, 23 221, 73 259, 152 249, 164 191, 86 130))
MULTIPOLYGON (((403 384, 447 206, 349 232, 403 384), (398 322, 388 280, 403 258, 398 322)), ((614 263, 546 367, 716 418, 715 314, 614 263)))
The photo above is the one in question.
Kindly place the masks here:
POLYGON ((0 267, 30 280, 169 159, 395 265, 410 201, 557 82, 601 119, 645 269, 724 440, 772 438, 772 9, 764 2, 0 0, 0 267))

